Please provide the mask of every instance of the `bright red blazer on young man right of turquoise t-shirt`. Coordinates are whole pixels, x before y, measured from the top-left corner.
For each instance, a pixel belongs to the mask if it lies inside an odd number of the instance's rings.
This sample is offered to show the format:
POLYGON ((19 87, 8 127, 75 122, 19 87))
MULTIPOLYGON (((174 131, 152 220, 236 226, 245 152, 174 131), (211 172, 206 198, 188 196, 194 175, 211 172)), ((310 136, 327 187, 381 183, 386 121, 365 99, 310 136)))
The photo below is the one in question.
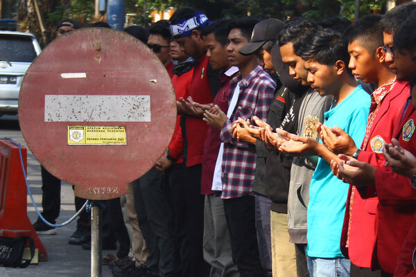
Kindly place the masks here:
MULTIPOLYGON (((368 143, 358 156, 358 161, 365 161, 376 168, 385 168, 385 159, 383 157, 383 143, 390 143, 392 135, 395 134, 395 123, 401 118, 401 112, 404 107, 406 99, 410 95, 410 87, 407 82, 397 82, 395 87, 388 93, 381 102, 379 111, 377 112, 372 127, 368 143)), ((385 238, 385 232, 381 230, 381 226, 377 222, 384 224, 384 206, 379 205, 380 194, 383 197, 385 191, 382 184, 376 184, 361 187, 356 187, 352 197, 352 186, 349 186, 349 193, 347 197, 347 207, 345 208, 345 218, 343 225, 343 232, 341 234, 341 251, 348 257, 352 263, 358 267, 367 267, 371 269, 379 268, 379 259, 377 252, 383 253, 385 248, 383 242, 385 240, 391 241, 393 244, 400 240, 397 238, 385 238), (351 211, 350 211, 351 208, 351 211), (351 217, 350 217, 351 213, 351 217), (383 220, 378 220, 378 217, 383 220), (348 224, 351 221, 349 229, 349 245, 346 247, 348 224), (379 241, 381 245, 377 245, 379 241)), ((397 186, 397 183, 395 183, 397 186)), ((382 199, 382 198, 380 198, 382 199)), ((395 217, 390 219, 390 224, 396 224, 395 217)), ((383 227, 384 228, 384 227, 383 227)), ((389 247, 391 249, 391 247, 389 247)), ((395 251, 390 253, 390 260, 393 260, 393 265, 398 255, 395 251), (393 257, 393 258, 392 258, 393 257)), ((390 267, 383 267, 383 270, 393 272, 390 267), (387 269, 390 269, 387 270, 387 269)))

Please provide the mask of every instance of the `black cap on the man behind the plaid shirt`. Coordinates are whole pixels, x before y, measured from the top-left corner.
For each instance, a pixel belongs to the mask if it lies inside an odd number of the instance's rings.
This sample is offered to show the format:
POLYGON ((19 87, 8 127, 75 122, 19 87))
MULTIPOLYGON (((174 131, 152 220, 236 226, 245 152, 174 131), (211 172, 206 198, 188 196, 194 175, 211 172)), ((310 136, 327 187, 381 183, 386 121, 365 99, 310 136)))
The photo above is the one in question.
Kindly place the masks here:
POLYGON ((251 55, 269 40, 277 39, 283 27, 284 23, 279 19, 269 18, 260 21, 254 26, 250 42, 239 52, 243 55, 251 55))

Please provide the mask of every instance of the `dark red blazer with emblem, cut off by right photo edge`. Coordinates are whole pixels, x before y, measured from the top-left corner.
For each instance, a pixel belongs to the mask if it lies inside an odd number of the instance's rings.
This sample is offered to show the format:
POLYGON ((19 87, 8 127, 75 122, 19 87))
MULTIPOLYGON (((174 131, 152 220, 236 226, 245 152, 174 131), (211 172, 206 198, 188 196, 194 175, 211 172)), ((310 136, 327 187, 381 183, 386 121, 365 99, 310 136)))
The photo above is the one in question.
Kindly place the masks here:
MULTIPOLYGON (((413 136, 415 123, 416 112, 410 104, 403 120, 398 120, 395 124, 395 134, 400 145, 413 155, 416 155, 416 135, 413 136), (408 129, 409 126, 413 127, 413 131, 408 129)), ((413 223, 416 190, 408 177, 392 172, 390 167, 376 170, 376 190, 380 199, 377 256, 381 268, 394 273, 401 246, 413 223)))

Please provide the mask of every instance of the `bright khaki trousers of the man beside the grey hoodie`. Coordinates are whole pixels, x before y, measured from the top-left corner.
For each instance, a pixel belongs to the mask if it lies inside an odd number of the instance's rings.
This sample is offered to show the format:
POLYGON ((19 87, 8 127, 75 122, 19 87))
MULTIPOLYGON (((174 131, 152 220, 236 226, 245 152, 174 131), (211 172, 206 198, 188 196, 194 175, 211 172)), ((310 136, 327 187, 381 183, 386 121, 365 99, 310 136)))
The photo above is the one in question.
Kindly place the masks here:
POLYGON ((286 213, 270 211, 273 277, 297 277, 295 244, 289 242, 286 213))

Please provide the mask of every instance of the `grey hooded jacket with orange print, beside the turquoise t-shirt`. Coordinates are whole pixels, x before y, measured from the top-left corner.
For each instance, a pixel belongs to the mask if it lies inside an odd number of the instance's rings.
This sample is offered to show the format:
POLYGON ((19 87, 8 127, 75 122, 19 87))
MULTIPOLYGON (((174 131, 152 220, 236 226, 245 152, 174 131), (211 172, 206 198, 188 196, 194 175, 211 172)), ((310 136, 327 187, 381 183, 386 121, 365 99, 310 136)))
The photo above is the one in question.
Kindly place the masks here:
MULTIPOLYGON (((332 96, 320 96, 316 91, 308 91, 300 106, 297 134, 318 140, 316 125, 324 122, 324 112, 331 107, 332 102, 332 96)), ((288 232, 293 243, 306 243, 309 184, 317 162, 318 157, 293 158, 288 195, 288 232)))

